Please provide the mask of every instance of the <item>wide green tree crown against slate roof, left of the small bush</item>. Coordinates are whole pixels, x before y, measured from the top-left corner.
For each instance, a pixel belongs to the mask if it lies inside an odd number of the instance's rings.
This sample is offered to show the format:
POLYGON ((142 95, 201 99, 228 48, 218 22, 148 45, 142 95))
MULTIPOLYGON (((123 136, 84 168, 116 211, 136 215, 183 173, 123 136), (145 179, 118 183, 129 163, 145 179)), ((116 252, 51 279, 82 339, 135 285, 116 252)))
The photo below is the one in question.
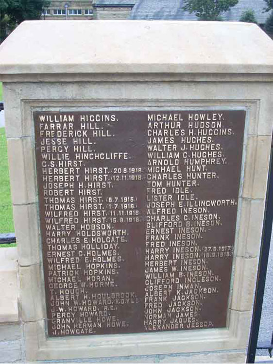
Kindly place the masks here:
POLYGON ((221 20, 221 14, 237 3, 238 0, 185 0, 183 10, 195 13, 199 20, 221 20))

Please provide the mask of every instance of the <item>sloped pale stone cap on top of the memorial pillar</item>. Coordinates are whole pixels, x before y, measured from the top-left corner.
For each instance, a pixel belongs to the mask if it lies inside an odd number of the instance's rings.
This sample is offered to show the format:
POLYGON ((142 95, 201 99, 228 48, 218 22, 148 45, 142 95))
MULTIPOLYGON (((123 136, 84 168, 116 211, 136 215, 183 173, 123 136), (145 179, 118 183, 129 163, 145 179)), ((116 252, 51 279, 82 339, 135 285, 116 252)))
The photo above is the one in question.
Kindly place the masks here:
POLYGON ((0 75, 56 73, 272 74, 273 41, 240 22, 48 20, 0 45, 0 75))

